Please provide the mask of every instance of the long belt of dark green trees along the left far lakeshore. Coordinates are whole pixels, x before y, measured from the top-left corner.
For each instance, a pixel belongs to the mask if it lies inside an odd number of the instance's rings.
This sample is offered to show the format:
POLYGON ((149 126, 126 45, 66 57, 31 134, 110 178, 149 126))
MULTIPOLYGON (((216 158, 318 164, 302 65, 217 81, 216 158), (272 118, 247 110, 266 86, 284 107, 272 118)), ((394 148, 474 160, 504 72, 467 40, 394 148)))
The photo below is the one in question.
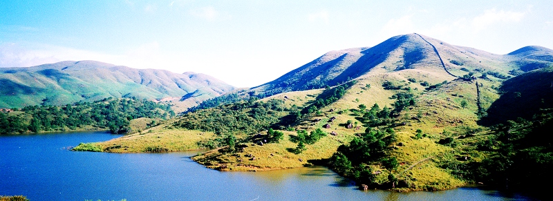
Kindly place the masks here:
POLYGON ((130 129, 131 119, 167 119, 174 115, 169 104, 158 104, 146 99, 109 97, 96 102, 77 102, 64 106, 26 106, 14 113, 0 113, 0 133, 66 131, 83 126, 126 133, 130 129))

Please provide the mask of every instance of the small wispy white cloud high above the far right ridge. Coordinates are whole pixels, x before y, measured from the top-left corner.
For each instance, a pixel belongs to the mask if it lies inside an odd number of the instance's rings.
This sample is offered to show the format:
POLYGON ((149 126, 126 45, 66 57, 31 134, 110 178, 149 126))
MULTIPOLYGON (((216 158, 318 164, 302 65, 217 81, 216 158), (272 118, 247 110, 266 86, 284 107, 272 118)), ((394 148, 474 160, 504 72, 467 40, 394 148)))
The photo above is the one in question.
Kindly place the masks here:
POLYGON ((484 14, 474 17, 474 19, 472 19, 471 26, 474 32, 479 32, 494 23, 521 21, 525 14, 525 12, 496 10, 495 8, 492 8, 490 10, 485 10, 484 14))

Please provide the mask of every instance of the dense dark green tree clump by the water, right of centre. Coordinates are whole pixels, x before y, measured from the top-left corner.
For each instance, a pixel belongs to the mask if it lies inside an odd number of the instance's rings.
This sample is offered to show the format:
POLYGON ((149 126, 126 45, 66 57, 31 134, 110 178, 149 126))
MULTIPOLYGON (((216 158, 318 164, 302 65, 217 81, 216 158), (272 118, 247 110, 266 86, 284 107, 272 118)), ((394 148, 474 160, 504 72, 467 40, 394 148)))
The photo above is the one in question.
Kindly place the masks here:
MULTIPOLYGON (((375 184, 373 169, 369 164, 382 164, 388 171, 397 167, 395 157, 384 157, 395 142, 395 131, 388 128, 381 131, 377 128, 366 128, 361 137, 355 137, 349 145, 342 144, 332 157, 330 157, 330 168, 346 178, 355 180, 359 184, 375 184)), ((394 185, 397 180, 392 175, 389 178, 394 185)))

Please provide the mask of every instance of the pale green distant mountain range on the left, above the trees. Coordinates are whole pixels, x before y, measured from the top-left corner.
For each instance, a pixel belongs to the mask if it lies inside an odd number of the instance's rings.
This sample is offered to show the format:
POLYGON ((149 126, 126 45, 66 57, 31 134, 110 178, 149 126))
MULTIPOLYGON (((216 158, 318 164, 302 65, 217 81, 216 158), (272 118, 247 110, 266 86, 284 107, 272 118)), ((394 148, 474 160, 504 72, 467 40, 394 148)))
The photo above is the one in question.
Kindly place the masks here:
POLYGON ((234 87, 200 73, 135 69, 99 61, 0 68, 0 108, 59 105, 105 97, 172 100, 194 106, 234 87))

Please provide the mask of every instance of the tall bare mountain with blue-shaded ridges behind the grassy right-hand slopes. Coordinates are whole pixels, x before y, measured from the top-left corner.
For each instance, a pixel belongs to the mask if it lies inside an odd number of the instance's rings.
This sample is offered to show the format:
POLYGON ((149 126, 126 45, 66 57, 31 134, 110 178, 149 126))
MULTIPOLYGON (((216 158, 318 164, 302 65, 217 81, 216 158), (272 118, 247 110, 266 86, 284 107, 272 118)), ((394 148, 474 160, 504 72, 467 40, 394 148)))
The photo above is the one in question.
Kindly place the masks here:
POLYGON ((541 46, 526 46, 507 55, 495 55, 413 33, 391 37, 372 48, 328 52, 252 90, 274 95, 335 86, 363 76, 414 68, 433 72, 435 79, 444 80, 461 77, 467 74, 463 71, 469 70, 493 71, 507 76, 552 65, 553 50, 541 46))

